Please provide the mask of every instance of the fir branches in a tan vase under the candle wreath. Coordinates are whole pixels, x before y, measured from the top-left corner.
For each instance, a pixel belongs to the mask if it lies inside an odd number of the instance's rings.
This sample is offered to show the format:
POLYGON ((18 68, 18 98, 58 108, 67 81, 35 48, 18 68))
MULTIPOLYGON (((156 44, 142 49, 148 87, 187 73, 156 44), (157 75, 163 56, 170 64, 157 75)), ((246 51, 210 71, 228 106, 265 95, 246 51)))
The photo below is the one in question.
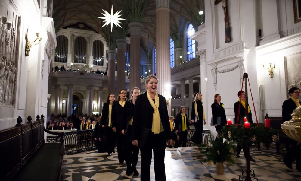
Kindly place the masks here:
POLYGON ((226 165, 235 164, 234 151, 236 146, 227 140, 223 142, 222 137, 222 135, 218 135, 217 139, 214 140, 214 137, 211 136, 211 139, 209 140, 210 144, 197 145, 201 153, 207 157, 203 161, 207 162, 208 165, 213 163, 218 175, 224 174, 225 168, 223 163, 226 165))

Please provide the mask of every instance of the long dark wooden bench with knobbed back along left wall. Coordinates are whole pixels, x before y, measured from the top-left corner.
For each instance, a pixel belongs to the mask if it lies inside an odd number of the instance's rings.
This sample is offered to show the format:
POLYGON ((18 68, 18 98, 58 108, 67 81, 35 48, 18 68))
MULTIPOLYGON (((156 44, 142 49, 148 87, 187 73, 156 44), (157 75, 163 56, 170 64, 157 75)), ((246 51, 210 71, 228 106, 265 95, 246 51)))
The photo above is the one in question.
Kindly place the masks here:
POLYGON ((36 121, 21 124, 19 116, 14 128, 0 131, 0 180, 43 180, 61 179, 63 164, 64 133, 55 133, 61 137, 61 143, 45 143, 44 116, 38 115, 36 121))

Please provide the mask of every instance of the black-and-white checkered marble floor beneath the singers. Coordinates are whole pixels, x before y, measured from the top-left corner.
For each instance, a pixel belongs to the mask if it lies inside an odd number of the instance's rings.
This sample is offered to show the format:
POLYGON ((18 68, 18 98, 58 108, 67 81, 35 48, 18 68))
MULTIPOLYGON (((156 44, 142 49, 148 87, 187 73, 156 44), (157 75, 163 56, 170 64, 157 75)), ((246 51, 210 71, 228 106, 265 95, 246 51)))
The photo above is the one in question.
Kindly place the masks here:
MULTIPOLYGON (((259 181, 301 181, 301 172, 289 169, 282 162, 283 156, 277 155, 276 151, 250 150, 251 156, 256 162, 251 162, 250 167, 255 171, 255 178, 259 181)), ((235 158, 236 164, 225 166, 224 175, 217 175, 215 166, 208 166, 202 162, 205 157, 200 154, 197 147, 167 148, 165 152, 165 171, 168 181, 230 181, 241 175, 241 170, 246 167, 244 154, 235 158)), ((139 154, 137 170, 140 173, 141 158, 139 154)), ((155 180, 154 163, 151 164, 151 180, 155 180)), ((61 180, 69 181, 113 181, 140 180, 139 176, 127 176, 126 164, 120 165, 117 152, 108 156, 97 151, 88 151, 81 154, 65 155, 61 180)))

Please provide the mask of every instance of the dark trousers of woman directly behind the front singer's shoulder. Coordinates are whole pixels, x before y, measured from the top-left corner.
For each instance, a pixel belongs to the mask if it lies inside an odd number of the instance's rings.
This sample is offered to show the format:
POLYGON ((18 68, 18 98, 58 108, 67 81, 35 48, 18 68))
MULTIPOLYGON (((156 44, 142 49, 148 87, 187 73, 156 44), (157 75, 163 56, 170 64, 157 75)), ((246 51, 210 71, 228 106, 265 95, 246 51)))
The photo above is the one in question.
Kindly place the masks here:
POLYGON ((137 165, 138 162, 138 155, 139 155, 139 147, 134 146, 131 140, 132 135, 132 125, 129 125, 126 138, 124 142, 124 150, 125 150, 125 160, 127 164, 137 165))

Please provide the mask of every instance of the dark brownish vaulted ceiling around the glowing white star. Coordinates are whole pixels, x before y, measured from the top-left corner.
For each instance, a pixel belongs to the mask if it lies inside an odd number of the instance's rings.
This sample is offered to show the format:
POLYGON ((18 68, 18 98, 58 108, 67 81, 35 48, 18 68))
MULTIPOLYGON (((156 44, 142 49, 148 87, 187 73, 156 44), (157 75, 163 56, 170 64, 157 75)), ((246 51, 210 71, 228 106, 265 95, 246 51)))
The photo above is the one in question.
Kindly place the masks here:
MULTIPOLYGON (((129 0, 132 1, 132 0, 129 0)), ((134 0, 135 1, 135 0, 134 0)), ((137 1, 137 0, 136 0, 137 1)), ((123 10, 121 18, 125 18, 123 3, 126 0, 54 0, 53 18, 56 30, 83 23, 98 33, 101 33, 103 22, 102 9, 110 13, 113 5, 114 13, 123 10)), ((204 0, 170 0, 170 26, 179 27, 191 20, 189 12, 204 11, 204 0)), ((149 0, 143 15, 141 37, 145 43, 155 42, 156 32, 156 2, 149 0)))

